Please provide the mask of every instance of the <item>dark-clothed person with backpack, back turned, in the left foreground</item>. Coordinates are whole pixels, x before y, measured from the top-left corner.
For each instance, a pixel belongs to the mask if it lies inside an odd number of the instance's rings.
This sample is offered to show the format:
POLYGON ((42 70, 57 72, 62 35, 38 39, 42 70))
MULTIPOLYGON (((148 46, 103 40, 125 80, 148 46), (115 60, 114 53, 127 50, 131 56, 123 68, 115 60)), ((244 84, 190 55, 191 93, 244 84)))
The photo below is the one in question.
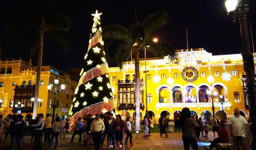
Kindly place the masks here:
POLYGON ((23 133, 26 132, 25 123, 16 114, 12 115, 12 120, 13 122, 10 124, 10 149, 15 150, 15 145, 18 143, 18 149, 23 150, 23 133))

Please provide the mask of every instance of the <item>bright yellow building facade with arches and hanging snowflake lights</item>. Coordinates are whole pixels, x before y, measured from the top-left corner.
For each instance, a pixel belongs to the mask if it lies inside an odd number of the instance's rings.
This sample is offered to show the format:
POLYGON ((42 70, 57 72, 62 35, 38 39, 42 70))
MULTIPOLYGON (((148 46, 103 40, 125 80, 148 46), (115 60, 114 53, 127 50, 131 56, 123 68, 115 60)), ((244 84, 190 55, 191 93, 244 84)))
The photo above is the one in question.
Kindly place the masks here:
MULTIPOLYGON (((215 115, 224 118, 238 107, 248 119, 248 101, 241 54, 212 55, 204 49, 177 50, 179 61, 169 63, 164 58, 140 59, 140 117, 146 114, 154 121, 160 115, 170 119, 179 118, 182 108, 188 107, 192 114, 205 120, 212 116, 212 98, 207 90, 212 86, 215 115), (146 67, 146 68, 145 68, 146 67), (146 72, 146 73, 145 73, 146 72), (146 83, 146 84, 145 84, 146 83), (146 94, 147 93, 147 94, 146 94), (222 96, 220 96, 222 95, 222 96), (221 98, 221 99, 220 99, 221 98), (247 108, 246 108, 247 107, 247 108)), ((134 61, 125 62, 123 69, 109 68, 116 111, 125 119, 135 115, 134 61)))

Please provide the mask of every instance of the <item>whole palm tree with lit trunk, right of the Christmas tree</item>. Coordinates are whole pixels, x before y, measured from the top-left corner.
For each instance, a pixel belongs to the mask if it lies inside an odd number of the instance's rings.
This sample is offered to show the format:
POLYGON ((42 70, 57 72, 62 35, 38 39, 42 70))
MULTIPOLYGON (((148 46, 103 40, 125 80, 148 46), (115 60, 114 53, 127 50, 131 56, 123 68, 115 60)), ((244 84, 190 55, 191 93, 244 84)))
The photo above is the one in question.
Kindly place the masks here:
POLYGON ((156 12, 150 14, 142 23, 135 22, 130 28, 119 24, 106 26, 103 31, 103 38, 110 38, 108 52, 122 69, 122 62, 128 61, 131 57, 131 51, 135 57, 135 98, 136 98, 136 126, 135 130, 140 131, 140 62, 139 53, 144 50, 146 45, 150 45, 146 50, 150 51, 156 57, 169 55, 172 62, 178 59, 176 51, 172 45, 166 41, 154 43, 151 36, 157 28, 164 26, 170 16, 166 12, 156 12))

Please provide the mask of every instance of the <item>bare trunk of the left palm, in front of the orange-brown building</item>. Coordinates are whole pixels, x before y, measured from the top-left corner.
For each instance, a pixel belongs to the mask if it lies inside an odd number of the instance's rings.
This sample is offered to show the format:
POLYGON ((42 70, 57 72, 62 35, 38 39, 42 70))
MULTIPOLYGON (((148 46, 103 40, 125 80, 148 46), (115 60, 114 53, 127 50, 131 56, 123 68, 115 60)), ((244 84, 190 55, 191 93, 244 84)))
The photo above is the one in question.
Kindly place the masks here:
POLYGON ((34 108, 33 108, 33 118, 36 118, 37 116, 40 76, 41 76, 42 57, 43 57, 43 44, 44 44, 44 30, 41 30, 38 59, 37 59, 36 89, 35 89, 35 97, 34 97, 35 99, 34 99, 34 108))

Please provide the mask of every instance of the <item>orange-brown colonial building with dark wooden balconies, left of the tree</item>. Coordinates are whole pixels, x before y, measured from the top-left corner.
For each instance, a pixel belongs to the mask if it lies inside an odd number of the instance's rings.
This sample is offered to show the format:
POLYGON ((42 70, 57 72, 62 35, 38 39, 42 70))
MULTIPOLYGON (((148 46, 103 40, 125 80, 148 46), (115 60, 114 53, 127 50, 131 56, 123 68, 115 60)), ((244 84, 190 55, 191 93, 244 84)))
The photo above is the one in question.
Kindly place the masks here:
MULTIPOLYGON (((0 61, 0 98, 3 100, 0 104, 0 114, 4 117, 13 113, 21 113, 25 118, 32 115, 34 102, 31 98, 35 93, 36 69, 37 67, 30 67, 28 62, 21 59, 0 61)), ((54 95, 48 93, 47 85, 53 85, 56 77, 60 85, 64 83, 66 89, 57 94, 55 114, 69 117, 68 112, 78 79, 52 66, 42 66, 39 88, 41 101, 38 103, 37 113, 52 114, 54 95)))

